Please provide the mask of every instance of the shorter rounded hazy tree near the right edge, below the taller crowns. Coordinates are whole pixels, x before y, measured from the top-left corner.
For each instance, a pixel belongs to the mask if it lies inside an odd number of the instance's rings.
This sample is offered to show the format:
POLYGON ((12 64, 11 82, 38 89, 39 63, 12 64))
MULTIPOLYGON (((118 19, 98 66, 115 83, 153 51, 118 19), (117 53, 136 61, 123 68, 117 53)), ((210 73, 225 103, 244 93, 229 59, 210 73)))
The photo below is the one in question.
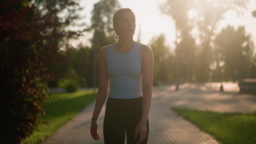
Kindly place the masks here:
POLYGON ((223 62, 223 80, 248 78, 253 63, 253 42, 251 35, 246 34, 245 27, 227 26, 214 40, 220 52, 219 61, 223 62))

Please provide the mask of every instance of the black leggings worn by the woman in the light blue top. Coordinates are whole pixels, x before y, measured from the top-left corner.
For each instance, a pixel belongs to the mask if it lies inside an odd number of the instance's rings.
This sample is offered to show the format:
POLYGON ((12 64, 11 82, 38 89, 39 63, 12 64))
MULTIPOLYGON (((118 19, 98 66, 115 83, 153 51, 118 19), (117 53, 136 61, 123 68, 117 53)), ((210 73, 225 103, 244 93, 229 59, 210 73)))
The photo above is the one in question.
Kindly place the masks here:
MULTIPOLYGON (((142 99, 116 99, 108 97, 104 122, 103 136, 105 144, 121 144, 125 142, 125 130, 127 144, 136 143, 135 130, 141 119, 142 99)), ((149 122, 147 120, 147 130, 149 133, 149 122)), ((148 133, 146 139, 141 143, 148 142, 148 133)))

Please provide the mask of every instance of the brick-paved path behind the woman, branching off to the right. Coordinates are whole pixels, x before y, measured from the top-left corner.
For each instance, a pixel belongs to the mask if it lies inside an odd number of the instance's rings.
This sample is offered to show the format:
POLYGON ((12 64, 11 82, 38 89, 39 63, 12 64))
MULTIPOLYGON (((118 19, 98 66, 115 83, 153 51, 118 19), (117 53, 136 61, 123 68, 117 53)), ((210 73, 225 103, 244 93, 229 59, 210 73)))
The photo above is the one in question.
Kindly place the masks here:
MULTIPOLYGON (((218 86, 212 83, 211 85, 185 83, 180 88, 180 91, 175 91, 174 86, 154 87, 152 106, 149 112, 149 144, 218 143, 211 135, 203 133, 195 125, 176 115, 171 111, 171 106, 226 112, 253 112, 256 110, 255 95, 237 94, 237 87, 234 85, 231 87, 224 85, 224 90, 228 91, 224 93, 217 92, 218 86)), ((95 101, 46 139, 43 144, 104 143, 103 118, 106 101, 98 117, 98 133, 101 135, 99 141, 95 141, 90 135, 90 122, 94 106, 95 101)))

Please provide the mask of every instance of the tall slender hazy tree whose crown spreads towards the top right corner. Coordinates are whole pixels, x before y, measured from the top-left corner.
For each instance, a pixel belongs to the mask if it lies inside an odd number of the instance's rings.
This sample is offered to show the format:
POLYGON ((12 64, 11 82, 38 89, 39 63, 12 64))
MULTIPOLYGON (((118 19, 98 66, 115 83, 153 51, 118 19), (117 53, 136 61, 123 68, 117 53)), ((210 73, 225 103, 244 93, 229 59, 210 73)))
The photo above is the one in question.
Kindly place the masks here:
POLYGON ((216 35, 216 29, 218 28, 218 22, 223 19, 223 15, 228 10, 236 10, 238 14, 246 8, 247 0, 208 0, 199 1, 195 3, 195 10, 197 11, 196 23, 197 29, 200 31, 200 53, 198 53, 197 63, 197 80, 207 81, 210 74, 210 65, 212 51, 213 36, 216 35), (214 13, 213 13, 214 11, 214 13))

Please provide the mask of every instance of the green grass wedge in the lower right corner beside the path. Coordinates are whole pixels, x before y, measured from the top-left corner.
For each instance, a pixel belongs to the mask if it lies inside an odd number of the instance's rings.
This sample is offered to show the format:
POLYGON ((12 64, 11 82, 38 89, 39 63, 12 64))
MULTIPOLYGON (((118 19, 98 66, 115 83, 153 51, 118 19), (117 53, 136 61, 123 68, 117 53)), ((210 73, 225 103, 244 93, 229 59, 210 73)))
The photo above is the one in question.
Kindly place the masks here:
POLYGON ((256 143, 256 113, 217 113, 177 107, 172 110, 223 144, 256 143))

